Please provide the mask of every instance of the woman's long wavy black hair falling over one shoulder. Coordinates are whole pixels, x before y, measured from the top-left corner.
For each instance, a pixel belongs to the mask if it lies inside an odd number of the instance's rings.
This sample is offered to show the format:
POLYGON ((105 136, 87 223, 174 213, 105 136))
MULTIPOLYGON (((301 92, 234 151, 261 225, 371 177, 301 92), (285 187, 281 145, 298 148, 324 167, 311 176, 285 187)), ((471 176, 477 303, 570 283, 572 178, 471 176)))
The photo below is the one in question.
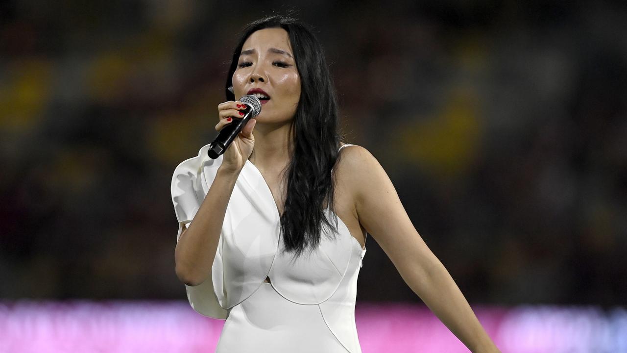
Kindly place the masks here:
POLYGON ((244 42, 264 28, 287 31, 300 75, 300 100, 290 130, 292 160, 285 174, 287 197, 281 215, 285 251, 297 257, 303 250, 320 244, 322 231, 329 237, 337 232, 337 219, 329 222, 329 213, 323 209, 327 204, 334 211, 335 180, 331 170, 339 155, 340 141, 337 96, 322 45, 312 31, 297 19, 270 16, 244 28, 226 77, 226 99, 235 100, 229 87, 233 86, 233 73, 244 42))

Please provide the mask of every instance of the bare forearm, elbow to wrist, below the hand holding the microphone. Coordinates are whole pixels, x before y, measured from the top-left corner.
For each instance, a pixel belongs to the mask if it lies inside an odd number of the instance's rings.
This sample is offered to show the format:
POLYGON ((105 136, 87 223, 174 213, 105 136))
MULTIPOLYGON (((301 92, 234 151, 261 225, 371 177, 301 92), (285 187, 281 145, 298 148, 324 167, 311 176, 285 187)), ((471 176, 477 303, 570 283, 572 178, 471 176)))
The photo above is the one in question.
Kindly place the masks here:
POLYGON ((197 286, 208 278, 216 256, 226 206, 233 193, 239 171, 218 168, 194 220, 185 229, 174 250, 176 275, 188 286, 197 286))

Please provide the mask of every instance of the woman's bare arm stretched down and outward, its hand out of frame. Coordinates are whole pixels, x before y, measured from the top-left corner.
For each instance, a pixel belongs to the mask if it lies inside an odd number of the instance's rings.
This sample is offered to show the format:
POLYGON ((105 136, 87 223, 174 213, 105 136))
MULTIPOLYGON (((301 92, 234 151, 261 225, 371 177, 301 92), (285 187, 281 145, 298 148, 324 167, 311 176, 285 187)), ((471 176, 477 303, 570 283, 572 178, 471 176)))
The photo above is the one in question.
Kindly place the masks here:
POLYGON ((342 159, 359 222, 398 269, 403 280, 472 352, 499 352, 443 264, 414 228, 396 189, 374 156, 361 146, 342 159))

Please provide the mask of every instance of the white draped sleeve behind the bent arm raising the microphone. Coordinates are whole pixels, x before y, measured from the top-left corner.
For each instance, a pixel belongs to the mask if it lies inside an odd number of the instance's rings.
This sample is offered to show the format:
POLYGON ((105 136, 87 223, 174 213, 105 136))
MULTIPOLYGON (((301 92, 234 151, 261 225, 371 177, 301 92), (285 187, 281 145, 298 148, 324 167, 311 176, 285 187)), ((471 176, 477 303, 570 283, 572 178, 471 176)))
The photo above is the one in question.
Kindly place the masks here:
MULTIPOLYGON (((221 158, 211 160, 207 156, 207 149, 208 145, 201 148, 198 156, 183 161, 176 167, 172 176, 172 202, 176 219, 179 222, 177 242, 181 237, 183 225, 187 227, 194 220, 221 161, 221 158)), ((219 298, 224 297, 223 261, 220 247, 221 241, 211 266, 211 276, 200 285, 186 285, 185 289, 187 300, 196 312, 208 317, 224 319, 227 312, 219 302, 219 298)))

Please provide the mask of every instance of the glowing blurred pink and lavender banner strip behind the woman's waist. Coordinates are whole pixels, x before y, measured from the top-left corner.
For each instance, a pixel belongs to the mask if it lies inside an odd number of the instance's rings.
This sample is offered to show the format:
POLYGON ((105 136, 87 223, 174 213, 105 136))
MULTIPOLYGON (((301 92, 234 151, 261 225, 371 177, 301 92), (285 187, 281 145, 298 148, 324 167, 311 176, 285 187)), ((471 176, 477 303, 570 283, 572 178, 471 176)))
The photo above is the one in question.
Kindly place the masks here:
MULTIPOLYGON (((627 311, 473 307, 503 353, 627 352, 627 311)), ((423 305, 357 303, 364 353, 468 352, 423 305)), ((0 352, 213 352, 223 321, 186 302, 0 303, 0 352)))

